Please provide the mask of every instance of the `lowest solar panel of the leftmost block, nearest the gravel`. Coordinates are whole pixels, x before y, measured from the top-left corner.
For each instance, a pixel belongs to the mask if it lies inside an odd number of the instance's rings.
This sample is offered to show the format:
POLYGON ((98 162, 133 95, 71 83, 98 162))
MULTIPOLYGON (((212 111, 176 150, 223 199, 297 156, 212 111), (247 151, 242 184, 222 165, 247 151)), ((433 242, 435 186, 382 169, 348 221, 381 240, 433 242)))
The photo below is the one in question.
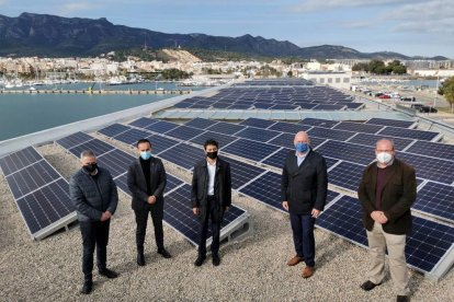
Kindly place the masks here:
POLYGON ((18 199, 16 202, 31 234, 76 210, 69 198, 68 183, 63 178, 18 199))

